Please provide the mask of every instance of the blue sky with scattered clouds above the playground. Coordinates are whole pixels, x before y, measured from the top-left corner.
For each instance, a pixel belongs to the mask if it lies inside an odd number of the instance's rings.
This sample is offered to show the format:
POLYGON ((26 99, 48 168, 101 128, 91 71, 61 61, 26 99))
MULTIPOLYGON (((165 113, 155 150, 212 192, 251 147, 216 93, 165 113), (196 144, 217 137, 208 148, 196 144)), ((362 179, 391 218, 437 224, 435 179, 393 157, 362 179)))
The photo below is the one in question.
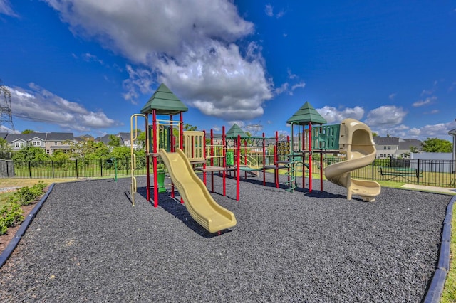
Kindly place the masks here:
POLYGON ((160 83, 207 131, 289 133, 306 101, 380 136, 456 128, 455 1, 0 0, 0 26, 19 132, 129 132, 160 83))

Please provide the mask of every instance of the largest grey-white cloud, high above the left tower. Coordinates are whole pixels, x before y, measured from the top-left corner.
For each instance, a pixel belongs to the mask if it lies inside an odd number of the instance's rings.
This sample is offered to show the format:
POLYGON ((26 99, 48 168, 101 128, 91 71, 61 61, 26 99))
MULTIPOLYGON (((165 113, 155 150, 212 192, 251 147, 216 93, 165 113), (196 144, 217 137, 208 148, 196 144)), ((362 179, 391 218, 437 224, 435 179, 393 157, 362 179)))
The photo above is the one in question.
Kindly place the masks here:
POLYGON ((254 25, 232 1, 45 1, 73 33, 140 65, 128 68, 126 100, 135 102, 163 82, 183 102, 228 121, 259 117, 272 97, 261 48, 236 44, 254 25))

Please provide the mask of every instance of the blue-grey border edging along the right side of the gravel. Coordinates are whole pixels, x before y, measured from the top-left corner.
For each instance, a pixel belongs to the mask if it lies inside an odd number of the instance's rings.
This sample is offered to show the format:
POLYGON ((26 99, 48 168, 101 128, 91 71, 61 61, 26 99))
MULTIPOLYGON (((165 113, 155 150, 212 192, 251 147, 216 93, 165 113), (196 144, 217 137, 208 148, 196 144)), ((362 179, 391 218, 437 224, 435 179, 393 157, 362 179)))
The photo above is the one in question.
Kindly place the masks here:
POLYGON ((456 196, 453 196, 447 206, 447 213, 443 221, 442 240, 440 244, 440 254, 437 263, 437 270, 432 275, 429 289, 427 289, 425 303, 438 303, 442 297, 443 287, 450 267, 450 242, 451 242, 451 220, 452 211, 456 203, 456 196))

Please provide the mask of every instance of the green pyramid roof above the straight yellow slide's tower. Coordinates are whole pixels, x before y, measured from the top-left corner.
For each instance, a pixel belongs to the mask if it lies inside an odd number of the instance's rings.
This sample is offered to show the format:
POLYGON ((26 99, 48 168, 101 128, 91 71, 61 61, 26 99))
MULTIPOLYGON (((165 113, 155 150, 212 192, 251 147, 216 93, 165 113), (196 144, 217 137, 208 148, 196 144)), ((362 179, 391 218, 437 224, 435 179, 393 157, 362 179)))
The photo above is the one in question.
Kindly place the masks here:
POLYGON ((157 110, 157 115, 176 115, 187 112, 188 107, 162 83, 142 107, 141 114, 150 114, 152 110, 157 110))

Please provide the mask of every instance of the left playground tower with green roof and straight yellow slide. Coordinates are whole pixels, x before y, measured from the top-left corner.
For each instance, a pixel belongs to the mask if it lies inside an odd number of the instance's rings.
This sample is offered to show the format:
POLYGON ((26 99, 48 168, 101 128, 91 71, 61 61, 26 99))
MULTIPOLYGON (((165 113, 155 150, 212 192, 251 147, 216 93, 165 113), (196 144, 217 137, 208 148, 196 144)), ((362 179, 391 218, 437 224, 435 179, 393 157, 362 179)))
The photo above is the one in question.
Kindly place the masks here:
MULTIPOLYGON (((146 169, 147 169, 147 188, 146 198, 150 201, 150 156, 152 156, 153 169, 153 190, 154 190, 154 206, 158 206, 158 186, 157 186, 157 166, 158 158, 160 157, 167 166, 172 179, 171 197, 174 198, 174 186, 180 193, 181 202, 190 213, 190 216, 197 221, 209 233, 216 233, 236 225, 234 213, 219 206, 205 184, 199 180, 192 169, 190 160, 182 151, 184 148, 184 132, 183 132, 183 112, 188 108, 166 87, 161 84, 155 91, 150 100, 142 107, 141 114, 135 114, 130 120, 130 174, 131 174, 131 191, 130 197, 133 205, 135 204, 136 178, 135 165, 136 159, 134 154, 134 142, 138 139, 138 117, 145 119, 145 150, 146 150, 146 169), (152 125, 149 125, 148 115, 152 115, 152 125), (167 115, 168 120, 157 119, 157 115, 167 115), (173 119, 174 115, 179 115, 179 121, 173 119), (174 130, 177 131, 177 136, 174 130), (175 139, 177 137, 177 140, 175 139), (160 152, 158 151, 160 146, 160 152)), ((203 159, 203 154, 199 149, 192 147, 202 147, 201 139, 198 136, 191 136, 187 140, 187 154, 192 154, 193 161, 203 159), (191 143, 190 143, 191 142, 191 143)))

